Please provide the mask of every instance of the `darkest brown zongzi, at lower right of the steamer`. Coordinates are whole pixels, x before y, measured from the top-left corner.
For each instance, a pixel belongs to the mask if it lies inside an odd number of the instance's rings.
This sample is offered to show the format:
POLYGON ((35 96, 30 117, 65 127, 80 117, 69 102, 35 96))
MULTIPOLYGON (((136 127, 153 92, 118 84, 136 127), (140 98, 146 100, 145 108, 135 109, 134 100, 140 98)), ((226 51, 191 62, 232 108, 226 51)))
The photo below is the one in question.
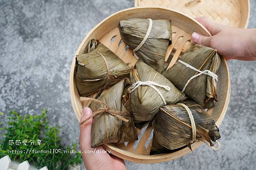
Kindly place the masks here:
POLYGON ((175 150, 195 141, 212 142, 220 139, 219 129, 208 113, 192 100, 161 106, 152 122, 154 141, 152 152, 175 150))

